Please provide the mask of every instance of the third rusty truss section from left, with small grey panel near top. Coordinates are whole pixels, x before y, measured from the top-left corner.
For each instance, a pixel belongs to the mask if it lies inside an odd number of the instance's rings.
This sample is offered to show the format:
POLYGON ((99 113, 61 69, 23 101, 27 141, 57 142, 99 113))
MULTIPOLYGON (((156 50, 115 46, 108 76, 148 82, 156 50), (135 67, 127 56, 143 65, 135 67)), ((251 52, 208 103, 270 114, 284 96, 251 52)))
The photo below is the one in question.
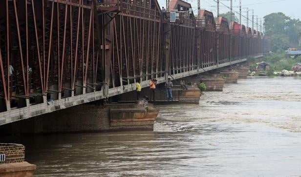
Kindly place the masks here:
POLYGON ((190 3, 171 0, 167 19, 163 19, 166 41, 165 57, 169 61, 169 74, 180 74, 195 70, 195 18, 190 3), (175 15, 174 21, 171 14, 175 15))

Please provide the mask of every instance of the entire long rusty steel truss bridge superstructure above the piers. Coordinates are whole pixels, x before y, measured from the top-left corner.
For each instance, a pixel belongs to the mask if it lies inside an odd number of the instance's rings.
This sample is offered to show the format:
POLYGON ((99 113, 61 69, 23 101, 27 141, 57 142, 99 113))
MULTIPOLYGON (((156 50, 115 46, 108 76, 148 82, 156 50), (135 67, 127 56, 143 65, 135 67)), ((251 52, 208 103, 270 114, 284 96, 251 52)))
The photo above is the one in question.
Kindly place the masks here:
POLYGON ((171 0, 1 0, 0 125, 261 57, 261 32, 171 0))

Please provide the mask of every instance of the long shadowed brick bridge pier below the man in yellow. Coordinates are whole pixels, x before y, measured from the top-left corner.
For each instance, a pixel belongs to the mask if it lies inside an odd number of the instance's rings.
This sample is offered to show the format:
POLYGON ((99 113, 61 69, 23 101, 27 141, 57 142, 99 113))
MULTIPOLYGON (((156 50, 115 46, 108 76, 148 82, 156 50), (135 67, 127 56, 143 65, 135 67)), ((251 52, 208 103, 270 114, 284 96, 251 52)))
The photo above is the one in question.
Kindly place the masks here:
POLYGON ((0 127, 3 134, 153 130, 159 111, 148 101, 82 104, 0 127))

